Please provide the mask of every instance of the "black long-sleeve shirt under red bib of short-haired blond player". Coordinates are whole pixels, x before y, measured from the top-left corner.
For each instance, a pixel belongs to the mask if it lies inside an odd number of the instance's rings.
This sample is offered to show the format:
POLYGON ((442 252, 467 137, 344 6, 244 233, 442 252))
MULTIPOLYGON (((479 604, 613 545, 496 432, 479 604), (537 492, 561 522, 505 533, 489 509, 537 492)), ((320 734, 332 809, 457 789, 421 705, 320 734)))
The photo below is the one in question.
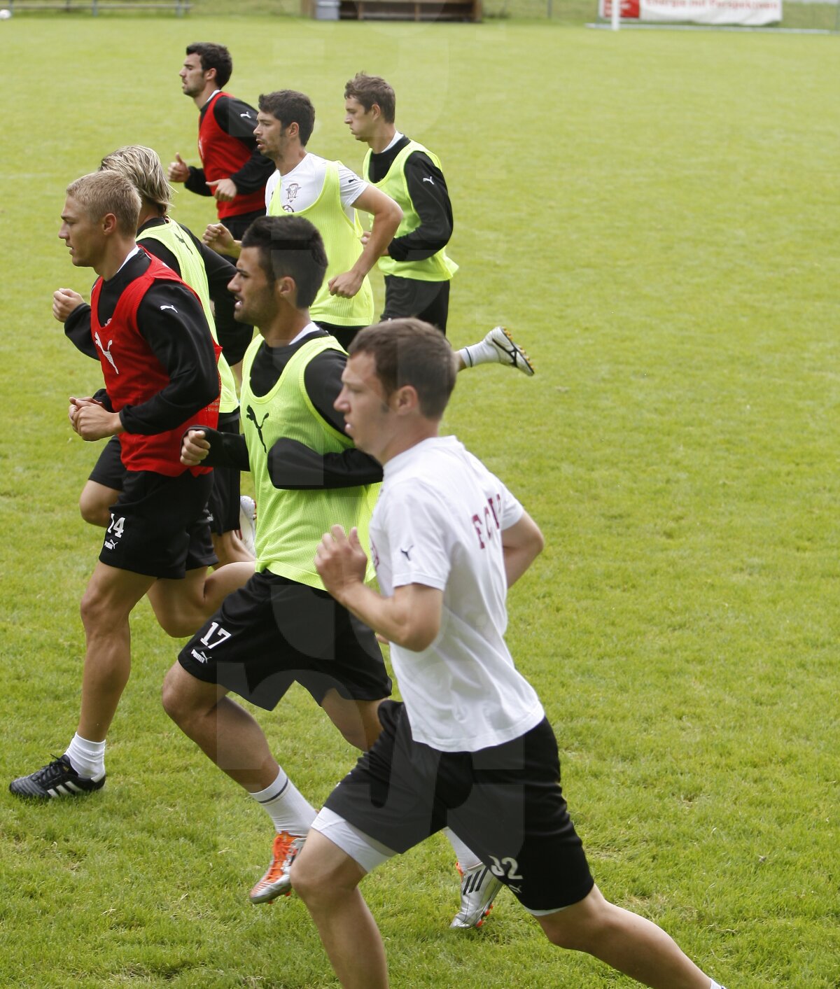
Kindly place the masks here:
MULTIPOLYGON (((97 313, 100 325, 114 315, 124 290, 147 270, 149 263, 148 256, 140 250, 113 278, 102 283, 97 313)), ((91 337, 90 315, 86 303, 77 306, 64 322, 64 333, 83 354, 99 360, 91 337)), ((219 395, 219 372, 204 311, 185 286, 155 282, 140 302, 138 328, 166 371, 169 384, 140 405, 124 405, 120 420, 127 432, 151 436, 175 429, 213 402, 219 395)))

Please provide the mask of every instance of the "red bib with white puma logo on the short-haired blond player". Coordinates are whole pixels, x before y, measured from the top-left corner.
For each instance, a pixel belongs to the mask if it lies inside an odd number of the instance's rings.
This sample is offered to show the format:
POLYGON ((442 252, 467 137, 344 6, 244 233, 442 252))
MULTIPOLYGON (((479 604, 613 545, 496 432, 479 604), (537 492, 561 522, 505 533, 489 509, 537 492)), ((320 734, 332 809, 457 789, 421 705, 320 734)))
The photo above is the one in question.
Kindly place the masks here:
MULTIPOLYGON (((111 405, 119 412, 125 405, 141 405, 161 392, 169 384, 166 369, 155 357, 154 352, 140 333, 138 309, 146 292, 154 282, 171 281, 184 285, 194 296, 195 293, 180 278, 156 257, 149 255, 147 270, 131 282, 120 296, 114 315, 101 325, 99 322, 99 294, 102 279, 97 278, 90 299, 90 332, 93 343, 99 351, 99 361, 105 378, 105 387, 111 405)), ((198 296, 196 296, 198 300, 198 296)), ((218 362, 222 348, 207 331, 213 344, 218 362)), ((120 433, 122 460, 129 471, 154 471, 168 477, 177 477, 184 471, 193 474, 207 474, 212 468, 186 468, 181 463, 181 438, 184 431, 193 425, 216 428, 219 422, 219 397, 210 405, 196 412, 174 429, 146 436, 141 433, 120 433)))

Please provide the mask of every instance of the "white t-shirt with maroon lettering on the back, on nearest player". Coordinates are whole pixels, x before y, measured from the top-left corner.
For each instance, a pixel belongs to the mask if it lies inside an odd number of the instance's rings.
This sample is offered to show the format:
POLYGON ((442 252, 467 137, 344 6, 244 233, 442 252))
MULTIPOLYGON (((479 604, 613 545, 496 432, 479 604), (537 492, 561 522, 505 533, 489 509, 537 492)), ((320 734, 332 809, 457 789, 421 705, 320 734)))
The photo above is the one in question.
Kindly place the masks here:
POLYGON ((502 530, 522 506, 454 436, 423 440, 385 465, 370 524, 382 593, 423 584, 443 591, 440 633, 391 661, 412 736, 442 752, 476 752, 530 731, 544 717, 505 644, 508 582, 502 530))

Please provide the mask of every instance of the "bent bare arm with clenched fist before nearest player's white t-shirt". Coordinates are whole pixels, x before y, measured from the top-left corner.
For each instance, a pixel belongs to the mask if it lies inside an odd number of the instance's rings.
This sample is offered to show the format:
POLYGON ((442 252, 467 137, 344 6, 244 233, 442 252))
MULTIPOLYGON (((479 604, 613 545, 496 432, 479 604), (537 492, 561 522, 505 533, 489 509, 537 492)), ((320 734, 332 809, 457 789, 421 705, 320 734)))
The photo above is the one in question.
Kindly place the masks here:
POLYGON ((383 597, 364 583, 367 556, 356 529, 349 536, 340 525, 324 534, 315 567, 330 594, 388 642, 420 653, 437 638, 443 592, 423 584, 397 587, 383 597))

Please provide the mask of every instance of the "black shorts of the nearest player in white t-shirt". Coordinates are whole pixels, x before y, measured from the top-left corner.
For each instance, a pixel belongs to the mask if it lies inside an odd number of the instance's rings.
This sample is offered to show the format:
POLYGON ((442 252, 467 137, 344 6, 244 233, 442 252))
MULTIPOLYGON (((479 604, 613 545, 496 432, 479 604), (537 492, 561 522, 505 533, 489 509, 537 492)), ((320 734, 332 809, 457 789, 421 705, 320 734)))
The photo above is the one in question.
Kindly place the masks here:
POLYGON ((325 807, 400 853, 448 825, 528 910, 587 896, 594 881, 546 719, 513 742, 472 753, 415 742, 400 702, 381 704, 379 720, 382 734, 325 807))

